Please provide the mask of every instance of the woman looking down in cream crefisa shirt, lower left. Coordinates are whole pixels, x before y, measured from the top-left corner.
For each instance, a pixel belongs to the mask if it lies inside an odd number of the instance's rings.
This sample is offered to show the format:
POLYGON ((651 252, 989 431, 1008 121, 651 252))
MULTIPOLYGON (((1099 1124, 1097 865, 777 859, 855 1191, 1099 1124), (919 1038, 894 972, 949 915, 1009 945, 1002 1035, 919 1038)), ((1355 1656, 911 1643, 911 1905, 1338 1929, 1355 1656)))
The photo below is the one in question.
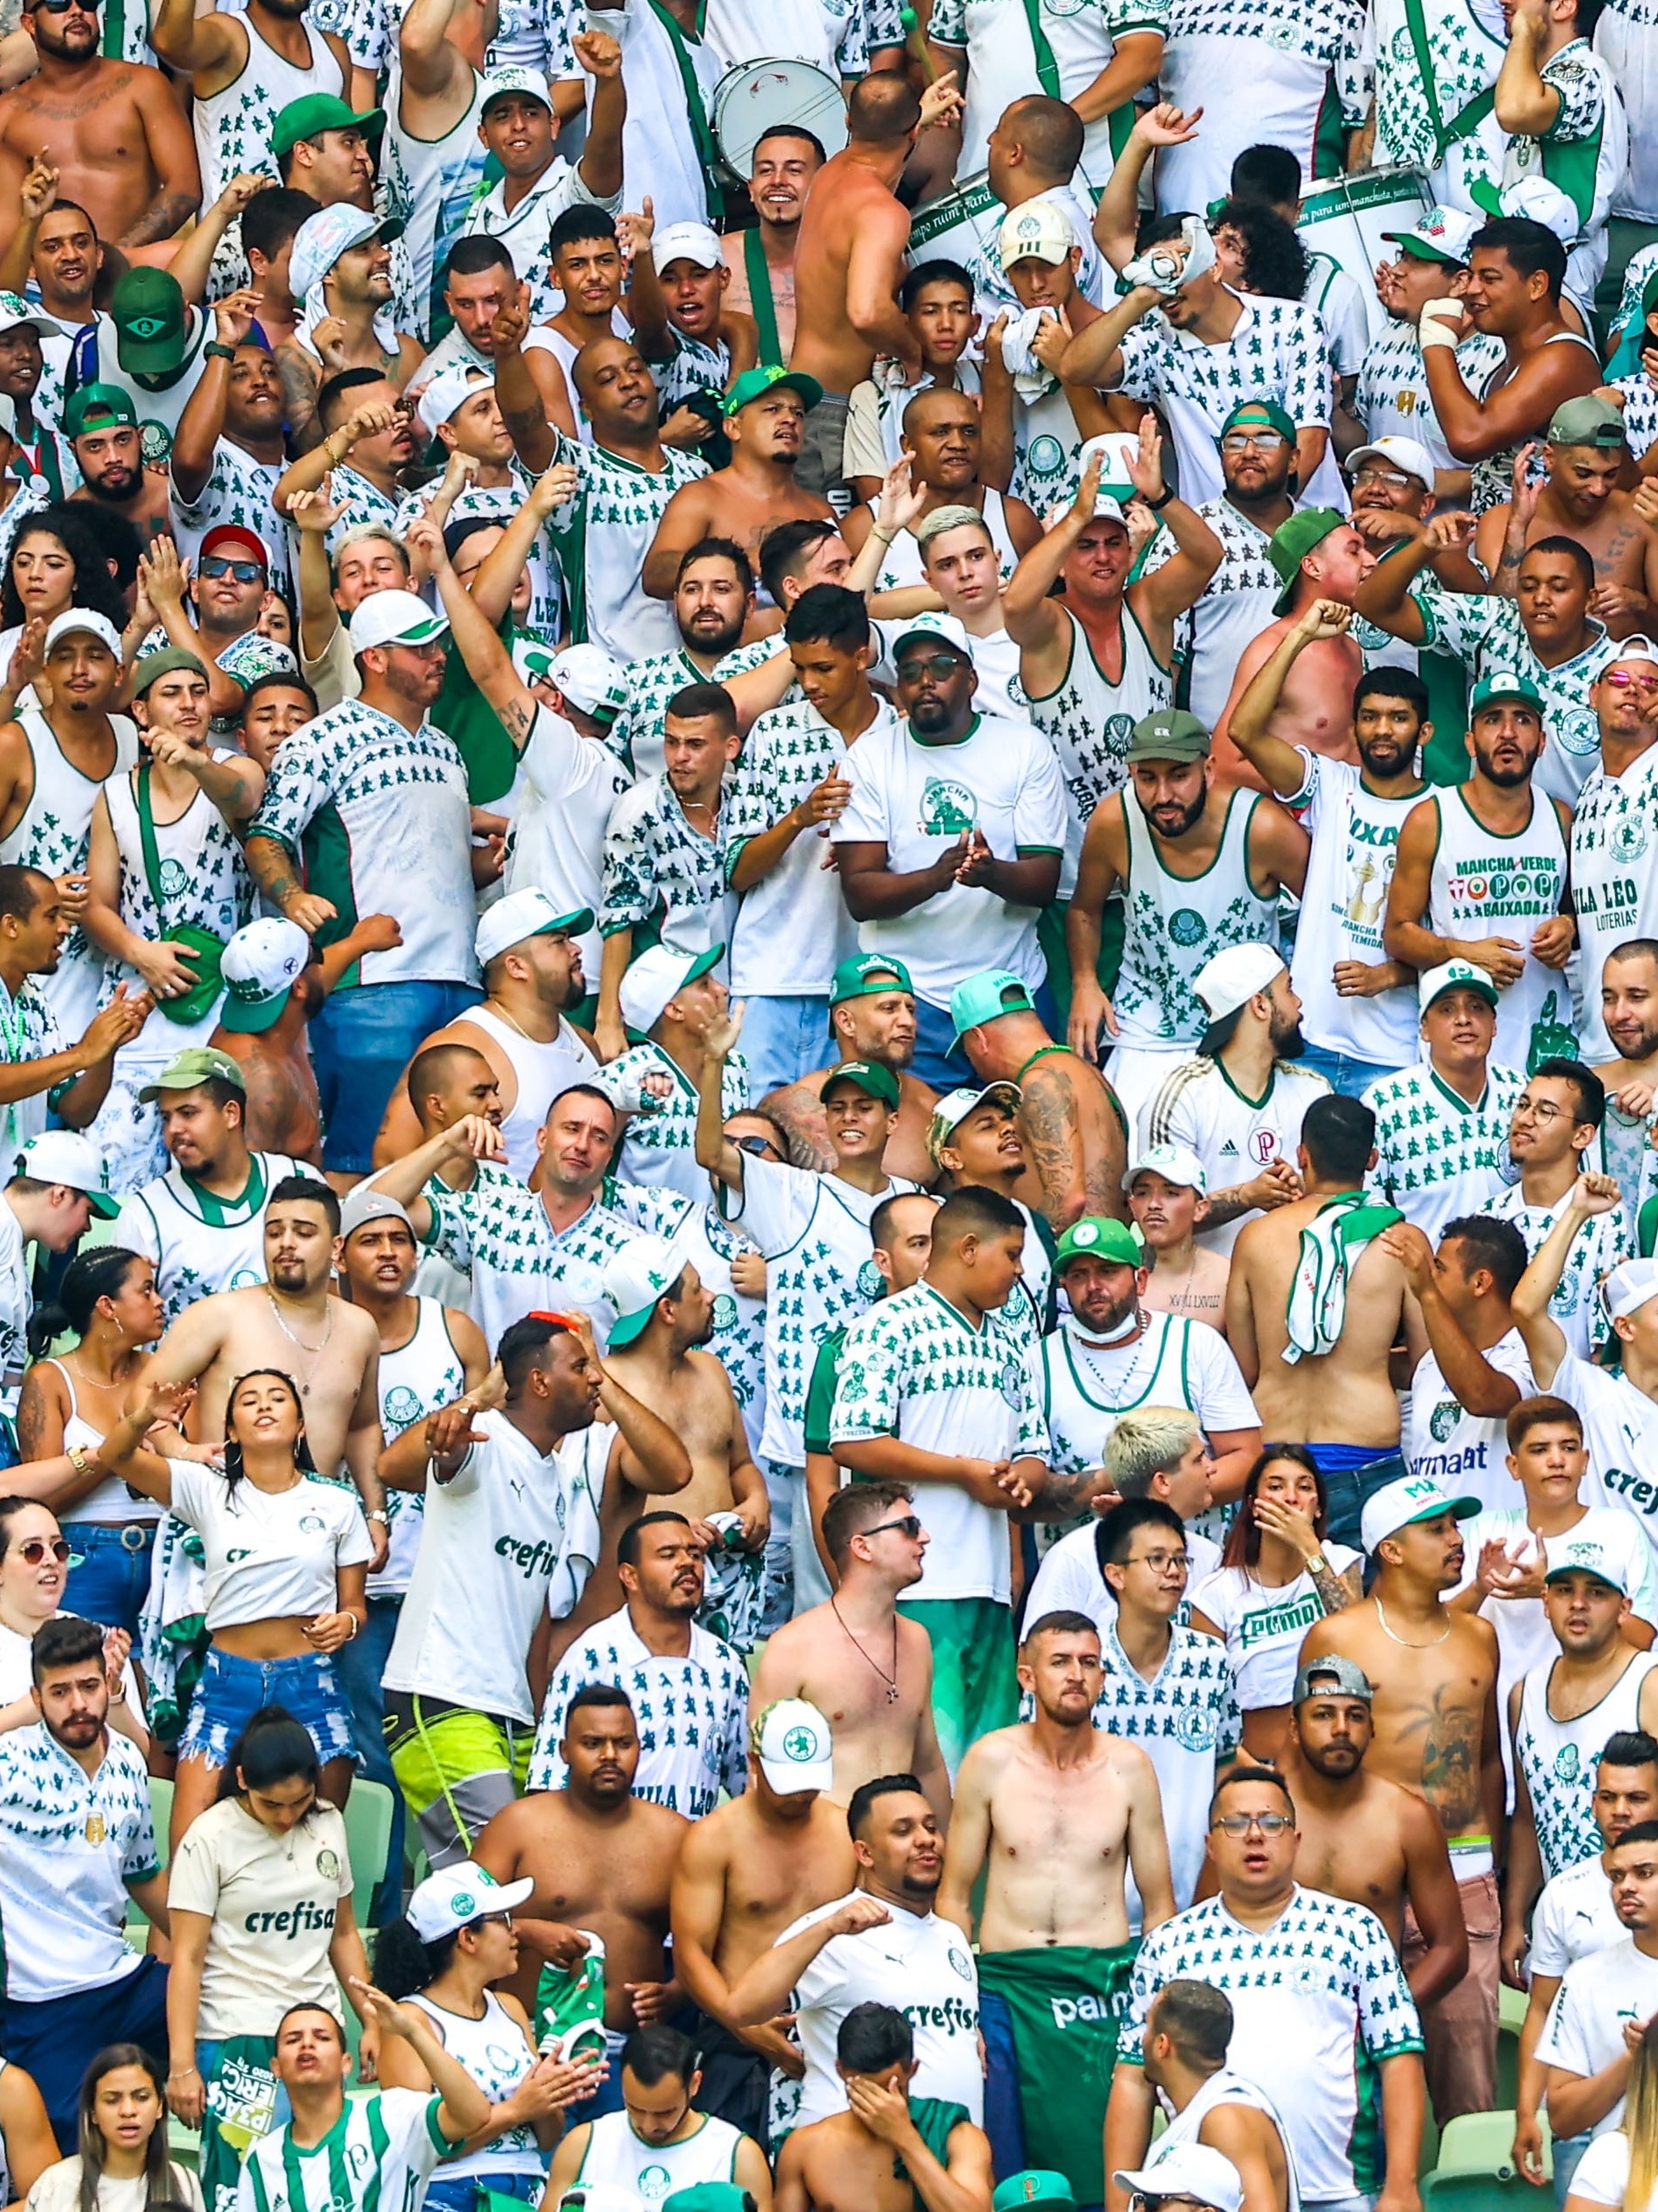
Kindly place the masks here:
MULTIPOLYGON (((221 2188, 234 2192, 248 2135, 287 2119, 272 2070, 283 2013, 321 2004, 338 2020, 340 1989, 351 1975, 369 1980, 345 1820, 321 1785, 307 1730, 281 1705, 261 1708, 168 1874, 168 2101, 201 2128, 210 2203, 221 2188)), ((376 2044, 378 2031, 365 2028, 367 2064, 376 2044)))

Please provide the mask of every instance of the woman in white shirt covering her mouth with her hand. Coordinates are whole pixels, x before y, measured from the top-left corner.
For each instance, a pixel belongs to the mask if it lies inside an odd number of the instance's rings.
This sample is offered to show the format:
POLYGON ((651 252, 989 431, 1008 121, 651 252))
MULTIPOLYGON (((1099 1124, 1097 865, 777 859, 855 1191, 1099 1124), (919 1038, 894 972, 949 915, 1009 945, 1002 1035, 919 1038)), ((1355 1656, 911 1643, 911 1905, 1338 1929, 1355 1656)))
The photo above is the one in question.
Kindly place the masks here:
POLYGON ((1364 1557, 1324 1542, 1326 1511, 1311 1451, 1267 1444, 1245 1478, 1220 1566, 1192 1593, 1192 1626, 1227 1646, 1251 1759, 1282 1752, 1307 1630, 1364 1595, 1364 1557))

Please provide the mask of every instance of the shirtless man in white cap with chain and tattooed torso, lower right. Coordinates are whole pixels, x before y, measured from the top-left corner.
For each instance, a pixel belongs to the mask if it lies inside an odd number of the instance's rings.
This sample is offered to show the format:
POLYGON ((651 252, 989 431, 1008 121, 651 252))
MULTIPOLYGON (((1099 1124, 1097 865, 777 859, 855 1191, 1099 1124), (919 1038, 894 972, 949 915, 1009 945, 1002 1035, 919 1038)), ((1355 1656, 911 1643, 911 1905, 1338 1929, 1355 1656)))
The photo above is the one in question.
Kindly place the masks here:
MULTIPOLYGON (((1340 1657, 1375 1683, 1371 1767, 1426 1798, 1450 1845, 1468 1975, 1421 2015, 1428 2093, 1441 2126, 1497 2104, 1501 1918, 1492 1838, 1505 1805, 1497 1630, 1446 1606, 1463 1568, 1457 1520, 1477 1511, 1477 1498, 1446 1498, 1430 1475, 1388 1482, 1364 1506, 1362 1537, 1377 1575, 1371 1595, 1318 1621, 1302 1644, 1304 1668, 1340 1657)), ((1406 1973, 1424 1951, 1421 1933, 1406 1922, 1406 1973)))

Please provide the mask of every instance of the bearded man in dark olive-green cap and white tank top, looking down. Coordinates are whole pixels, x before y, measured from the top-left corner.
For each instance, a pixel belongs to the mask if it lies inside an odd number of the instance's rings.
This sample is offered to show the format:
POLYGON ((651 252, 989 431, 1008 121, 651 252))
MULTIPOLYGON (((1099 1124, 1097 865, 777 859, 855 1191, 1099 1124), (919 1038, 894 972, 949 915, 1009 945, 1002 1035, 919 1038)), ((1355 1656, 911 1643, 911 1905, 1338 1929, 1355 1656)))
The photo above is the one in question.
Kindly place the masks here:
POLYGON ((1070 1046, 1083 1060, 1099 1060, 1101 1042, 1116 1046, 1108 1075, 1130 1128, 1214 1020, 1194 993, 1198 969, 1222 940, 1278 942, 1278 889, 1300 896, 1307 883, 1307 832, 1276 799, 1220 785, 1209 750, 1209 732, 1180 708, 1134 723, 1130 787, 1094 810, 1066 916, 1070 1046), (1130 874, 1121 967, 1105 998, 1105 900, 1130 874))

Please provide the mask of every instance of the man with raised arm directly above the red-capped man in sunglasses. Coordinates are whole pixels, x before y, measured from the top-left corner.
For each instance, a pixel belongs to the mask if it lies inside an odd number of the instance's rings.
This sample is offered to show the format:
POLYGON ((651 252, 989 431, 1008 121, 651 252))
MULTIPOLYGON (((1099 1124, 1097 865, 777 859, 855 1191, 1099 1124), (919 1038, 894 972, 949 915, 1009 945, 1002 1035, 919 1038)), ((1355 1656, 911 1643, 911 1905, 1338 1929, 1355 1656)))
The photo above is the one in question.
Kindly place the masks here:
POLYGON ((270 546, 270 582, 292 602, 294 553, 276 520, 287 465, 283 387, 270 347, 252 336, 259 305, 256 292, 232 292, 212 310, 217 352, 201 365, 168 456, 170 522, 179 557, 190 562, 208 531, 252 531, 270 546))

